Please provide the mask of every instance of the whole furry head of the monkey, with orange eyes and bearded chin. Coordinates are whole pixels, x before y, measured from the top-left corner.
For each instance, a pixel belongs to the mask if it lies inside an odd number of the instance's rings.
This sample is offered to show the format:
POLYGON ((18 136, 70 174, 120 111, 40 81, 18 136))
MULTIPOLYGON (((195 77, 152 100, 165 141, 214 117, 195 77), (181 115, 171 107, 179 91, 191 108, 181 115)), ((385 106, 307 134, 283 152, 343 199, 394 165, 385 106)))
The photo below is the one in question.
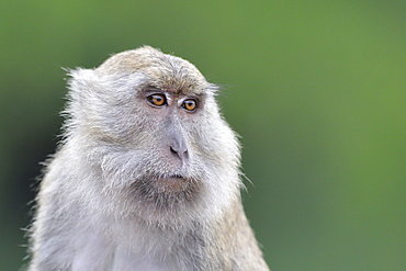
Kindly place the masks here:
POLYGON ((82 142, 77 155, 113 212, 169 222, 237 196, 239 145, 193 65, 143 47, 71 76, 67 144, 82 142))

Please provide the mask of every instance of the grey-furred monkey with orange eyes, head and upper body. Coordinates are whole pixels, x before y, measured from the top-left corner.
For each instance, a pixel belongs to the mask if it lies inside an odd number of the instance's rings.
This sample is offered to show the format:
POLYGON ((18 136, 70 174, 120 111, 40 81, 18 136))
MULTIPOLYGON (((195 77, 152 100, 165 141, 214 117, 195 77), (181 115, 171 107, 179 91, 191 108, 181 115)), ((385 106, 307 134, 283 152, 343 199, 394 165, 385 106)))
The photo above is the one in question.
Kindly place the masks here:
POLYGON ((29 271, 269 270, 245 214, 219 87, 143 46, 68 71, 29 271))

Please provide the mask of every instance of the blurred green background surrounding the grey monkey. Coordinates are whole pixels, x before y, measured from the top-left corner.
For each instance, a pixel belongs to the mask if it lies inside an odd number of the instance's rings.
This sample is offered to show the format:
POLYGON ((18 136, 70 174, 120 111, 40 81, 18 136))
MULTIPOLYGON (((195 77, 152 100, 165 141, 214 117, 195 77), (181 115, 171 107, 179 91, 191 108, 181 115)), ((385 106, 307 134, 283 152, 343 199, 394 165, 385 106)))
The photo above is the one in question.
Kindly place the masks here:
POLYGON ((63 68, 144 44, 224 86, 273 271, 406 270, 404 0, 1 1, 0 270, 24 262, 63 68))

